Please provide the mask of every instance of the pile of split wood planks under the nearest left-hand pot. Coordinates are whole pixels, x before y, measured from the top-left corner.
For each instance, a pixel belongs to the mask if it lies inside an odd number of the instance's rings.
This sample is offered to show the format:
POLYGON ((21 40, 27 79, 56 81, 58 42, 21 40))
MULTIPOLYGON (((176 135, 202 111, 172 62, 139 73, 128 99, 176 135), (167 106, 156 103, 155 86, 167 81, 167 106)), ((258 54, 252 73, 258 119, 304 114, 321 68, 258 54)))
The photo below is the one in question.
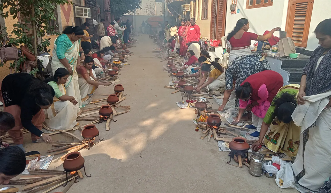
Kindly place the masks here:
MULTIPOLYGON (((42 193, 47 193, 66 183, 65 171, 34 169, 30 170, 29 173, 30 174, 21 175, 20 179, 10 180, 9 184, 26 184, 22 189, 25 193, 35 193, 41 190, 44 190, 42 193)), ((83 175, 79 170, 74 174, 68 174, 68 184, 62 192, 66 193, 78 178, 83 178, 83 175)))

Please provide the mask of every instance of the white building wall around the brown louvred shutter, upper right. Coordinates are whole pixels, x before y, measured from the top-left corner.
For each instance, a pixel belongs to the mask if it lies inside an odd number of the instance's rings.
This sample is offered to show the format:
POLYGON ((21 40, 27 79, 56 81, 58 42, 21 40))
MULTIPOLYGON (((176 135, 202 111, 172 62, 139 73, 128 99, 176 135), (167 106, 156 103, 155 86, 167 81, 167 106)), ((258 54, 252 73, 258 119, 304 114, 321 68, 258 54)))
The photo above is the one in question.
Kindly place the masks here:
MULTIPOLYGON (((240 13, 235 15, 231 15, 231 1, 227 2, 225 35, 232 31, 237 21, 241 18, 247 18, 250 22, 250 29, 248 31, 258 35, 262 35, 265 30, 270 31, 274 27, 281 27, 282 30, 285 30, 289 0, 274 0, 273 5, 270 7, 253 9, 246 9, 247 0, 238 0, 237 9, 240 10, 240 13)), ((321 21, 331 18, 330 9, 331 0, 314 1, 309 27, 307 50, 313 51, 318 46, 318 40, 316 39, 313 31, 317 24, 321 21)), ((279 32, 275 32, 274 35, 279 37, 279 32)))

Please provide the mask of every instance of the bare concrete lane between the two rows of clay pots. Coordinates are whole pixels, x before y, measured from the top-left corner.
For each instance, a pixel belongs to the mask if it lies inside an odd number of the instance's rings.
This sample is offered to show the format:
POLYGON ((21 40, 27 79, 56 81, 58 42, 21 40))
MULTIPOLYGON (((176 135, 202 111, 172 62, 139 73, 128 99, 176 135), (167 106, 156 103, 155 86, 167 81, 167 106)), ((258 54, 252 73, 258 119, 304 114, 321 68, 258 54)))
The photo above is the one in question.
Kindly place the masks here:
MULTIPOLYGON (((297 192, 278 188, 274 178, 254 177, 245 166, 226 164, 228 152, 219 152, 215 140, 201 140, 201 130, 195 131, 194 110, 180 110, 175 103, 180 93, 164 88, 171 78, 163 71, 166 62, 152 53, 153 39, 136 38, 130 65, 119 75, 127 94, 121 105, 130 105, 131 111, 116 116, 110 131, 105 122, 96 125, 104 141, 80 151, 92 177, 80 179, 68 192, 297 192)), ((113 86, 99 86, 93 99, 109 93, 113 86)))

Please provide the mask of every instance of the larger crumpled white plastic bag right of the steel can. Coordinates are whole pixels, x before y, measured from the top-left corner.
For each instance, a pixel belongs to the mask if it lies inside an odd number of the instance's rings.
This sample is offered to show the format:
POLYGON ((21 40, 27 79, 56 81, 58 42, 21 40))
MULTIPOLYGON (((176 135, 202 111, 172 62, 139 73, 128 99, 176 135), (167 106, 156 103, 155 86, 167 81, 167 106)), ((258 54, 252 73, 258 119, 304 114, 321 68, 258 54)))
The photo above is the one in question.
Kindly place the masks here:
POLYGON ((276 173, 275 179, 277 186, 280 188, 294 188, 292 164, 287 163, 276 156, 273 156, 271 161, 280 165, 280 170, 276 173))

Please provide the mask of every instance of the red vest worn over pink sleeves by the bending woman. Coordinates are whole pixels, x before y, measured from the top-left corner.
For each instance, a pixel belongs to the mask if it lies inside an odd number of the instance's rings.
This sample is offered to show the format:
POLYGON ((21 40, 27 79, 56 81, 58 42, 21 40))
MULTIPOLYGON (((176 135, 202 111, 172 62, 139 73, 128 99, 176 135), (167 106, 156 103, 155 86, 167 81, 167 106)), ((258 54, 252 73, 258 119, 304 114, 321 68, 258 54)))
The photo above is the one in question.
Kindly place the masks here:
POLYGON ((265 84, 265 87, 268 91, 267 101, 271 103, 272 99, 276 96, 278 90, 283 86, 284 81, 282 75, 275 71, 262 71, 253 75, 248 76, 246 80, 240 85, 244 85, 245 82, 249 82, 252 87, 252 101, 259 101, 259 89, 265 84))

